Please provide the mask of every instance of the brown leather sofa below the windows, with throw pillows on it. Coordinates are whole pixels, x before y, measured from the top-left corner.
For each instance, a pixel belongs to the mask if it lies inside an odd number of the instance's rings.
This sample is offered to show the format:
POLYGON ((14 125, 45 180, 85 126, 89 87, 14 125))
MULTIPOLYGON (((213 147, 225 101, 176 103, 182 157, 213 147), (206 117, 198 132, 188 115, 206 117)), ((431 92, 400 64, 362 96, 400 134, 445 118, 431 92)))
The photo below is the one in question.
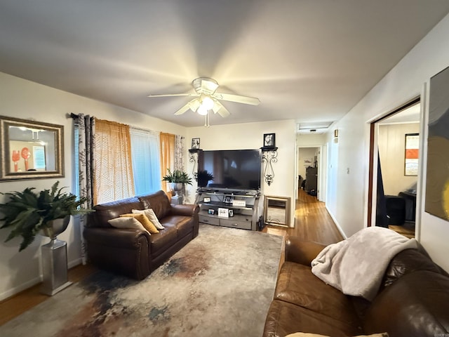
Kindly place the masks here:
POLYGON ((101 269, 135 279, 147 277, 198 235, 199 207, 171 205, 163 191, 99 204, 94 209, 83 232, 88 260, 101 269), (133 209, 149 208, 165 227, 159 233, 114 228, 107 222, 133 209))

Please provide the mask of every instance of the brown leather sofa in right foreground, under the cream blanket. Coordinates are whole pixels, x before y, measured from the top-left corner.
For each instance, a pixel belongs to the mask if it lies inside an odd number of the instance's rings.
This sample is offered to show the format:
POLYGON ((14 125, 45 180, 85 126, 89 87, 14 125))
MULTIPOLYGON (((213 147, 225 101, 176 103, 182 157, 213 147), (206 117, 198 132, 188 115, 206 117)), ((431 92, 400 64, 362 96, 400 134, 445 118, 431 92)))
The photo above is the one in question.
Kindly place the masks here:
MULTIPOLYGON (((264 327, 264 337, 306 332, 324 336, 389 333, 389 337, 449 336, 449 276, 423 249, 390 262, 372 302, 346 296, 311 272, 324 248, 290 237, 264 327)), ((380 247, 382 249, 382 247, 380 247)))

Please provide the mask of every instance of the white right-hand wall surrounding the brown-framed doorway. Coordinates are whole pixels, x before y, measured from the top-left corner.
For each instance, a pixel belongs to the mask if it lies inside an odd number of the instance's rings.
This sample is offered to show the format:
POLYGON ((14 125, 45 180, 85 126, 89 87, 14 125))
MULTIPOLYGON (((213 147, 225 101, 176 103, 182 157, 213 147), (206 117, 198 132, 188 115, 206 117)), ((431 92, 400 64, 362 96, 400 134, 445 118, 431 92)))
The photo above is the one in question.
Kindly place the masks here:
MULTIPOLYGON (((347 115, 337 122, 339 129, 338 143, 333 144, 333 135, 328 134, 329 166, 333 167, 332 180, 328 183, 330 193, 326 206, 338 225, 349 236, 367 224, 368 197, 368 160, 369 160, 369 122, 391 112, 396 107, 422 95, 427 102, 424 91, 430 77, 441 72, 449 65, 449 15, 434 27, 419 44, 417 44, 401 62, 396 65, 347 115), (332 195, 332 198, 330 198, 332 195)), ((428 114, 427 104, 424 107, 428 114)), ((427 120, 427 119, 426 119, 427 120)), ((427 126, 421 132, 422 145, 425 144, 427 126)), ((420 149, 421 150, 421 149, 420 149)), ((425 168, 427 149, 422 154, 422 168, 425 168)), ((422 170, 424 180, 425 169, 422 170)), ((329 175, 329 181, 331 179, 329 175)), ((418 189, 421 184, 418 184, 418 189)), ((425 185, 420 194, 425 195, 425 185)), ((417 200, 419 207, 424 202, 417 200)), ((449 270, 449 223, 431 216, 424 211, 417 213, 418 239, 434 258, 436 263, 449 270)))

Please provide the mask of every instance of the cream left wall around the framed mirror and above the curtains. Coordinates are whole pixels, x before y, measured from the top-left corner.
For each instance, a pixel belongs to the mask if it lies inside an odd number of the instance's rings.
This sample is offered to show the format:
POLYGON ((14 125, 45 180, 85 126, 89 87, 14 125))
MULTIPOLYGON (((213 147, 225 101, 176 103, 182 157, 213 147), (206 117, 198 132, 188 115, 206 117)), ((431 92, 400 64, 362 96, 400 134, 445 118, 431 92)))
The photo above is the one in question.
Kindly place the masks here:
MULTIPOLYGON (((99 119, 120 121, 124 124, 185 135, 185 128, 149 117, 145 114, 101 103, 88 98, 42 86, 31 81, 0 73, 0 114, 7 117, 34 119, 64 126, 65 177, 60 179, 34 179, 0 182, 0 192, 22 191, 25 187, 36 187, 36 191, 51 187, 56 180, 74 192, 72 134, 73 121, 67 114, 91 114, 99 119)), ((0 195, 0 202, 5 197, 0 195)), ((18 252, 20 238, 4 243, 9 231, 0 230, 0 300, 17 293, 41 280, 41 244, 48 239, 38 236, 31 246, 18 252)), ((80 230, 72 219, 68 229, 60 234, 67 242, 69 267, 80 263, 80 230)))

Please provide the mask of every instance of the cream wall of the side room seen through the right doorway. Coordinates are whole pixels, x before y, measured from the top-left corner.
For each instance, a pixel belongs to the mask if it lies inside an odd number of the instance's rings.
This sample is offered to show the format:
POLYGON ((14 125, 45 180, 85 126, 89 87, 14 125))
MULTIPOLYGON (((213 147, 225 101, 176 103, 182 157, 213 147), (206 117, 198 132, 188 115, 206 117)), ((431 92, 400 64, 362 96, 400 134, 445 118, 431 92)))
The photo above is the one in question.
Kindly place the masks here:
POLYGON ((419 133, 419 123, 379 126, 380 165, 386 195, 398 195, 417 183, 417 176, 405 176, 406 133, 419 133))

